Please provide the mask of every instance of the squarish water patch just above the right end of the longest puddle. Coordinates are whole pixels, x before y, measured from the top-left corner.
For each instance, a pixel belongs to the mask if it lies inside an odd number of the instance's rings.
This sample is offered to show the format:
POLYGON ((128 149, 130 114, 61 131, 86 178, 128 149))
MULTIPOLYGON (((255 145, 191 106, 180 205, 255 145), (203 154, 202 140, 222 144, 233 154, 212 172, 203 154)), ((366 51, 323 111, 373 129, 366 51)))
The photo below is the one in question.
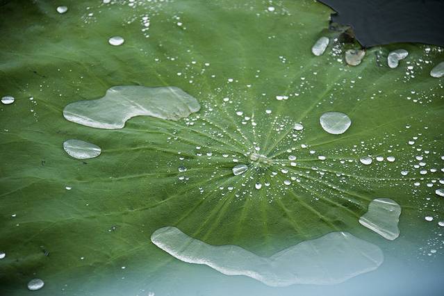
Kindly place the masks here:
POLYGON ((383 238, 395 240, 400 236, 400 229, 397 227, 400 215, 401 206, 394 200, 378 198, 368 204, 368 212, 359 218, 359 223, 383 238))

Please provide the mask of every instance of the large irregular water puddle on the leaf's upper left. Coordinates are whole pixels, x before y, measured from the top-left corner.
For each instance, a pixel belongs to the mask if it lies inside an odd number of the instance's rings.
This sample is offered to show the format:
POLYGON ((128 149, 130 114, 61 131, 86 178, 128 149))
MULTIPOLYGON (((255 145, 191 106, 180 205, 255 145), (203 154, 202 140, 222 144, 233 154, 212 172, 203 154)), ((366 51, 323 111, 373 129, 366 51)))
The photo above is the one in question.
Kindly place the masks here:
POLYGON ((120 85, 109 88, 101 99, 68 104, 63 116, 70 122, 98 129, 122 129, 131 117, 179 120, 199 109, 199 102, 180 88, 120 85))

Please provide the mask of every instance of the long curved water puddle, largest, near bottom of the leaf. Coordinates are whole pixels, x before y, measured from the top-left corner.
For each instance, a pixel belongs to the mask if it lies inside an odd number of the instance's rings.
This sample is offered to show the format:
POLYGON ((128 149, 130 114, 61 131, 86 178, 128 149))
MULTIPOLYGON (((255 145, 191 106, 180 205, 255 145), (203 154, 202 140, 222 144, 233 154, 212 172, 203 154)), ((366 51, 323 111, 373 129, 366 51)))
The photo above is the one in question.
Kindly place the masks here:
POLYGON ((181 261, 245 275, 268 286, 331 285, 376 270, 384 261, 376 245, 342 231, 306 240, 264 258, 236 245, 208 245, 176 227, 154 231, 151 242, 181 261))

